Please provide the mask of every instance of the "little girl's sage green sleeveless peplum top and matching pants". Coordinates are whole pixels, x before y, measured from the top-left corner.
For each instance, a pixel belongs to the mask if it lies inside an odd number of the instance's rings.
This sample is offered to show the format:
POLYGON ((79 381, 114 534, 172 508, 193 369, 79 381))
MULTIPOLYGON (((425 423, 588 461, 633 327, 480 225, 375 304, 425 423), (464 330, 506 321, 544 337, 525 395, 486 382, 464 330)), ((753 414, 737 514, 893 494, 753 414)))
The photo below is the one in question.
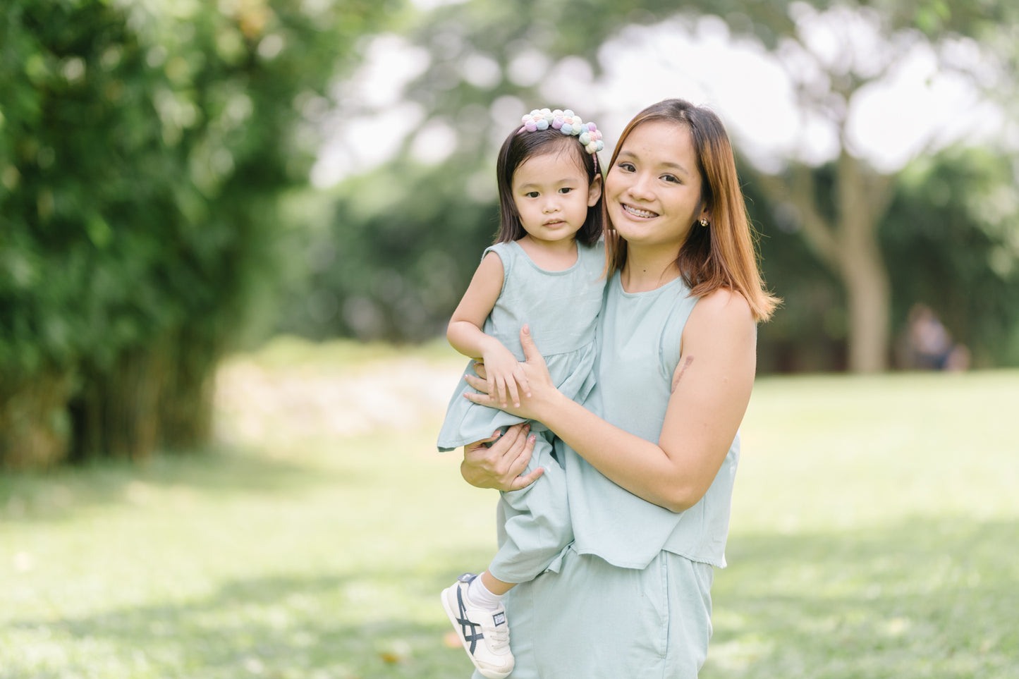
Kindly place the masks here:
MULTIPOLYGON (((552 379, 564 394, 581 401, 594 384, 595 328, 605 281, 604 244, 577 244, 577 262, 561 271, 546 271, 518 243, 498 243, 485 250, 502 262, 502 290, 482 328, 521 361, 520 329, 527 323, 545 357, 552 379)), ((474 373, 474 362, 467 367, 474 373)), ((498 428, 523 422, 520 417, 473 404, 465 379, 453 391, 438 436, 438 449, 449 451, 488 438, 498 428)), ((565 472, 552 452, 552 434, 540 422, 530 469, 545 473, 522 490, 500 494, 497 508, 499 550, 488 570, 505 582, 530 580, 544 571, 573 540, 565 472)))

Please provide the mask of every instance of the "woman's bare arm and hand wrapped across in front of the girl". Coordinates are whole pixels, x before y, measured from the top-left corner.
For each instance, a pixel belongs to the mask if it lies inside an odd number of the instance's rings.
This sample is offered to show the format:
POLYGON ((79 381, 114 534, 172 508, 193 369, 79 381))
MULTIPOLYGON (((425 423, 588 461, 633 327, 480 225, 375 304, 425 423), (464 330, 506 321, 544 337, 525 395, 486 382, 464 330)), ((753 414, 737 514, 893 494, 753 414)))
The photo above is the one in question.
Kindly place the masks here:
MULTIPOLYGON (((707 492, 746 412, 756 368, 756 328, 742 296, 719 290, 694 307, 656 443, 565 397, 530 334, 522 332, 521 342, 532 396, 506 410, 540 420, 595 469, 650 503, 682 512, 707 492)), ((471 400, 493 405, 483 394, 471 400)))

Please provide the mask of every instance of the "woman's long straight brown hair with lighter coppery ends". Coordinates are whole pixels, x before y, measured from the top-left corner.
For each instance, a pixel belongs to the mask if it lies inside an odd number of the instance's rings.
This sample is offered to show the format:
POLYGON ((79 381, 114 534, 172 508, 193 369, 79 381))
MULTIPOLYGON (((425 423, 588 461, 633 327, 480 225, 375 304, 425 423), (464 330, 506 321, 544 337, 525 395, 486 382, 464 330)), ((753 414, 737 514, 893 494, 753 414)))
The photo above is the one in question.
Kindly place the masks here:
MULTIPOLYGON (((691 294, 703 297, 719 288, 741 294, 750 304, 754 319, 767 320, 781 303, 764 288, 758 266, 756 233, 747 216, 747 205, 736 175, 733 147, 721 120, 710 109, 683 99, 666 99, 638 113, 620 136, 608 171, 633 129, 648 120, 666 120, 690 130, 697 169, 701 175, 701 200, 711 215, 710 224, 694 224, 676 259, 691 294)), ((607 275, 627 261, 627 243, 605 214, 607 275)))

